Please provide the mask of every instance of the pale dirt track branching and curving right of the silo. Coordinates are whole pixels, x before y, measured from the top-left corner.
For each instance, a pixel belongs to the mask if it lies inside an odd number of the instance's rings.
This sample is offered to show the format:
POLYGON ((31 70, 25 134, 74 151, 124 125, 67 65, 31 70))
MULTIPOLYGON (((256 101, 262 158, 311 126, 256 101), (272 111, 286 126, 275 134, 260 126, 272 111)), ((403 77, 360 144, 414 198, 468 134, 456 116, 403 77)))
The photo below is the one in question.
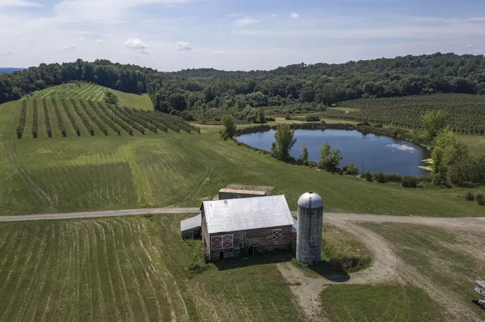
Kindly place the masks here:
POLYGON ((414 267, 406 264, 391 249, 383 237, 362 226, 359 222, 374 223, 408 223, 442 226, 449 230, 471 230, 485 232, 485 218, 434 218, 434 217, 404 217, 404 216, 376 216, 376 215, 353 215, 353 214, 325 214, 325 222, 342 228, 357 236, 373 253, 373 262, 365 270, 351 274, 344 280, 341 276, 309 276, 291 263, 280 263, 278 269, 283 277, 291 283, 291 290, 296 296, 297 302, 302 307, 310 320, 322 319, 321 292, 327 285, 333 284, 371 284, 377 285, 385 282, 398 284, 411 284, 421 287, 438 303, 442 303, 447 311, 448 321, 482 321, 469 307, 440 285, 431 282, 422 276, 414 267))

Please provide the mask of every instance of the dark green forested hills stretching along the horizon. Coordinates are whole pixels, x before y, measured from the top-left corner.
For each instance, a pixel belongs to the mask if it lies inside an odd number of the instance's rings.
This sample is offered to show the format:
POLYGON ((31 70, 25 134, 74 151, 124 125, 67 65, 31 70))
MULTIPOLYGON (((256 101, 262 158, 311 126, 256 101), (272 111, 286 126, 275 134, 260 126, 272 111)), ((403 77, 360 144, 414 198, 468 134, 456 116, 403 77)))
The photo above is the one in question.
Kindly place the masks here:
POLYGON ((108 60, 78 59, 0 75, 0 103, 69 81, 90 81, 125 92, 146 92, 155 109, 167 113, 199 108, 242 111, 248 105, 291 104, 315 110, 315 104, 330 105, 357 98, 440 92, 485 94, 485 58, 436 53, 344 64, 296 64, 272 71, 190 69, 175 73, 108 60))

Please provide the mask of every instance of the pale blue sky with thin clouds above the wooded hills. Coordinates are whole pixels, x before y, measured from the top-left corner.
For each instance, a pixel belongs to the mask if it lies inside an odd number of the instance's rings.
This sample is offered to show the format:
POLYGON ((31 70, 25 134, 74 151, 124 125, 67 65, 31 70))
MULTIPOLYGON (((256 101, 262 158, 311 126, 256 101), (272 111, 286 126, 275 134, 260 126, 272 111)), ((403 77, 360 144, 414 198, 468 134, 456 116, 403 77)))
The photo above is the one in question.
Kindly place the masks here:
POLYGON ((0 0, 0 67, 158 71, 484 54, 485 0, 0 0))

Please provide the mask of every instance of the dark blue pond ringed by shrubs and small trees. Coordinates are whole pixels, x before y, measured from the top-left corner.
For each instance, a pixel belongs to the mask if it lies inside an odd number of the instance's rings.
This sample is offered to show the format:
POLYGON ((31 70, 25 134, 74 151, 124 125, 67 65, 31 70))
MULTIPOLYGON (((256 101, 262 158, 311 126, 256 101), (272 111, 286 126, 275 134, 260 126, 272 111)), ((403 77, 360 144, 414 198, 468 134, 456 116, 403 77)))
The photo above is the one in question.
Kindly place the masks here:
MULTIPOLYGON (((238 141, 251 147, 271 150, 271 143, 275 141, 275 131, 243 134, 238 141)), ((399 140, 392 136, 363 134, 356 130, 317 129, 295 130, 296 143, 291 149, 291 156, 299 158, 301 145, 306 143, 309 160, 318 163, 320 148, 328 142, 332 149, 340 149, 343 160, 340 167, 354 163, 364 172, 383 172, 387 174, 402 174, 422 176, 429 174, 428 170, 418 166, 427 166, 423 160, 430 158, 428 149, 406 140, 399 140)))

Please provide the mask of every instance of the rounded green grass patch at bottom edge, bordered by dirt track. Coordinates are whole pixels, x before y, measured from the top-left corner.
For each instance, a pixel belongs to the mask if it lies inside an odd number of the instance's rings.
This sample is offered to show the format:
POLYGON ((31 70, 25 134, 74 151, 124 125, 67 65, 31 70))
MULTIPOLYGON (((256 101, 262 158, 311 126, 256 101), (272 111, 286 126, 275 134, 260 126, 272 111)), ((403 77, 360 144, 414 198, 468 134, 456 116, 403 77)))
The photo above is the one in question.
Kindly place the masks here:
POLYGON ((423 290, 403 285, 331 285, 322 291, 330 321, 444 321, 441 308, 423 290))

